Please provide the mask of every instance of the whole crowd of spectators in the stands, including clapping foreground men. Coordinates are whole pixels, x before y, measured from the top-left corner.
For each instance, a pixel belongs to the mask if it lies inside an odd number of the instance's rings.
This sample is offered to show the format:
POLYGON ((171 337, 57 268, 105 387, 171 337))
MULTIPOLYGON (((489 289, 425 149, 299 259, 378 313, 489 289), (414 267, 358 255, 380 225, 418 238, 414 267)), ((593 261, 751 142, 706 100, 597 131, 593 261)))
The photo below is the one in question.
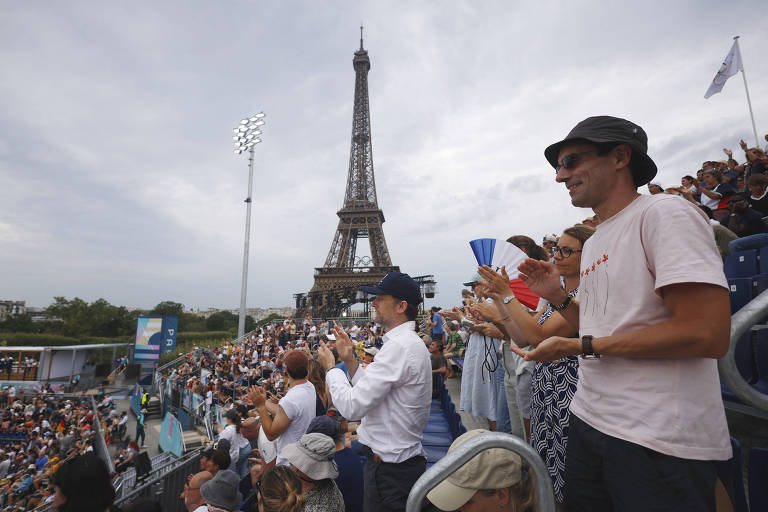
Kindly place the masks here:
MULTIPOLYGON (((199 395, 220 424, 180 497, 187 510, 402 510, 425 469, 420 439, 443 378, 461 380, 460 410, 531 444, 566 509, 714 510, 709 463, 730 457, 714 366, 728 339, 722 257, 768 245, 768 158, 741 147, 742 163, 726 149, 664 188, 641 128, 589 118, 545 155, 573 204, 595 215, 541 245, 508 238, 528 258, 521 279, 537 303, 511 291, 507 269, 482 266, 456 306, 419 317, 418 285, 391 273, 366 289, 375 322, 288 318, 187 354, 163 385, 199 395), (638 196, 646 184, 650 195, 638 196), (660 194, 680 198, 651 197, 660 194), (609 286, 613 272, 633 293, 609 286), (706 325, 691 329, 692 316, 706 325), (655 476, 639 482, 638 472, 655 476)), ((65 476, 92 457, 94 411, 48 395, 2 400, 3 431, 24 436, 0 454, 3 506, 74 510, 65 476)), ((429 498, 441 510, 535 507, 530 469, 505 450, 478 455, 429 498)))

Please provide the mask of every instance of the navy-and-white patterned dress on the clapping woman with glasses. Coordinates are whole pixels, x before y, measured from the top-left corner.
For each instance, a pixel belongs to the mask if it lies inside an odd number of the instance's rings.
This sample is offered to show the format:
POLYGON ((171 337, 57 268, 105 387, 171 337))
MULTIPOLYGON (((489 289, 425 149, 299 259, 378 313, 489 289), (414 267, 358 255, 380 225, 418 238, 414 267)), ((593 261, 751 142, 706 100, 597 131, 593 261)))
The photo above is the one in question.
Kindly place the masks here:
MULTIPOLYGON (((568 293, 573 298, 578 288, 568 293)), ((546 322, 555 310, 551 304, 539 317, 546 322)), ((531 385, 531 446, 539 452, 552 477, 555 498, 565 496, 565 450, 568 445, 570 406, 579 381, 579 358, 568 356, 551 363, 536 363, 531 385)))

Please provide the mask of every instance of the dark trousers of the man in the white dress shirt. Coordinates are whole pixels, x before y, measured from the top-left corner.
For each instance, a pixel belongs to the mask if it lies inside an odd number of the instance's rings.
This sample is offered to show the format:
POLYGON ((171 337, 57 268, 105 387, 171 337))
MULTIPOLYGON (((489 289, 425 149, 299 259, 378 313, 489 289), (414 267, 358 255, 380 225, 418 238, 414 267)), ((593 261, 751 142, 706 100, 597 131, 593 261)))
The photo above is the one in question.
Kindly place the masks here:
POLYGON ((363 468, 363 511, 395 512, 405 510, 408 493, 426 471, 427 459, 411 457, 403 462, 376 462, 373 452, 363 445, 368 458, 363 468))

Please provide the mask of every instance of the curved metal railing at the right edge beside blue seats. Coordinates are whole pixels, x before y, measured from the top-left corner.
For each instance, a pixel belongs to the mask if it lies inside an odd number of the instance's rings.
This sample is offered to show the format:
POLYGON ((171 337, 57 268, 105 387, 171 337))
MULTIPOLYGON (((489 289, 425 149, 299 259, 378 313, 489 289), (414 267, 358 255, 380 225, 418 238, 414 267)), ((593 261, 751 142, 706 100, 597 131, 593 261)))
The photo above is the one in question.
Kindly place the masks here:
POLYGON ((728 353, 717 361, 720 380, 744 403, 768 411, 768 395, 752 388, 736 366, 736 343, 741 335, 768 314, 768 290, 764 291, 731 317, 731 344, 728 353))

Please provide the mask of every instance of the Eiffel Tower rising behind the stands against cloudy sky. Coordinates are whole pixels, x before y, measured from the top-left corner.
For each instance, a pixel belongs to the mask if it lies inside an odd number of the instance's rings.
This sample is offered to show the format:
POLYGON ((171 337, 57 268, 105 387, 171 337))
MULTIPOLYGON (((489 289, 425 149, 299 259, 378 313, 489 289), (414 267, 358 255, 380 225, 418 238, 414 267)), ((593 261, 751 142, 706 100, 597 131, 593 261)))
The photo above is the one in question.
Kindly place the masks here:
POLYGON ((355 106, 352 113, 352 145, 344 205, 339 210, 339 225, 322 267, 315 268, 315 284, 307 294, 295 294, 297 316, 335 317, 352 304, 368 303, 361 286, 378 283, 392 271, 387 242, 384 240, 384 212, 376 199, 371 146, 371 113, 368 108, 368 71, 371 61, 363 48, 360 27, 360 49, 352 59, 355 69, 355 106), (357 242, 367 238, 371 256, 356 257, 357 242))

